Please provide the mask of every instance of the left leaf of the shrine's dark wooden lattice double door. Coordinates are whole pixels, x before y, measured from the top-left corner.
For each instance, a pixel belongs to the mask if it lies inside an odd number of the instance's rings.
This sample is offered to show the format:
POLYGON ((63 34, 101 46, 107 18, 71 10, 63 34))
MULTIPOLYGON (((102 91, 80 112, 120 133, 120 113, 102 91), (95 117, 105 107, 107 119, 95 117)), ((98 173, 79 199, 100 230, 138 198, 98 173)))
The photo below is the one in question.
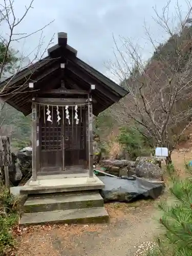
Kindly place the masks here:
MULTIPOLYGON (((51 120, 47 120, 46 109, 41 108, 39 118, 40 128, 40 171, 62 171, 63 166, 63 125, 57 122, 56 108, 50 108, 51 120)), ((59 108, 60 113, 62 109, 59 108)))

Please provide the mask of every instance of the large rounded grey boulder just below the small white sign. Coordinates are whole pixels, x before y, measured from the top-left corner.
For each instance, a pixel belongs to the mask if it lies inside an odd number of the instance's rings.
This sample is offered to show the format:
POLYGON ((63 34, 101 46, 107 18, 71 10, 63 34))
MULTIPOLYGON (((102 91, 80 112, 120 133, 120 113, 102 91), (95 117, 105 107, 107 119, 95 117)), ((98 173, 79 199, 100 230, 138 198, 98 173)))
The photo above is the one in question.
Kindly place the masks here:
POLYGON ((137 177, 163 180, 163 170, 159 165, 143 158, 136 161, 135 174, 137 177))

